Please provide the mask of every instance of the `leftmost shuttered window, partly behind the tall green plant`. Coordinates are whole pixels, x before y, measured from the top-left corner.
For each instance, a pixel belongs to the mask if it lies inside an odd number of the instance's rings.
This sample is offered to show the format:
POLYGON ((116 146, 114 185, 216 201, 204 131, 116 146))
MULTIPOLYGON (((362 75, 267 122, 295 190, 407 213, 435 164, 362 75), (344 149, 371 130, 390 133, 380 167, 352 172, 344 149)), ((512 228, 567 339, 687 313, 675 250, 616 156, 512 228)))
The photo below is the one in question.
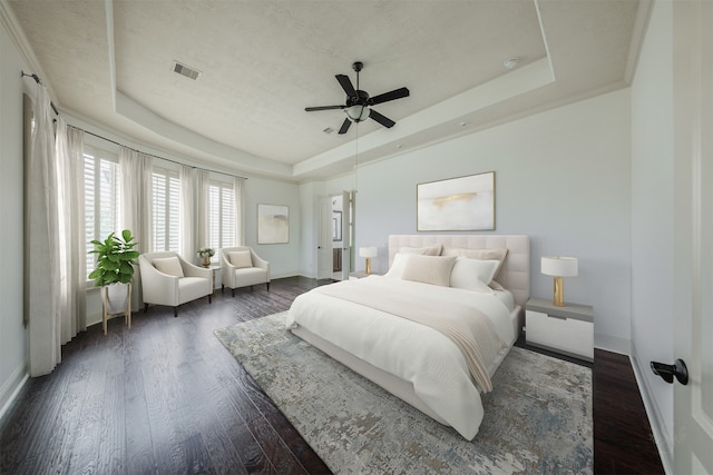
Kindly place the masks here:
MULTIPOLYGON (((119 164, 115 156, 85 148, 85 230, 87 253, 92 239, 104 240, 120 231, 119 164)), ((95 268, 92 254, 87 256, 87 275, 95 268)))

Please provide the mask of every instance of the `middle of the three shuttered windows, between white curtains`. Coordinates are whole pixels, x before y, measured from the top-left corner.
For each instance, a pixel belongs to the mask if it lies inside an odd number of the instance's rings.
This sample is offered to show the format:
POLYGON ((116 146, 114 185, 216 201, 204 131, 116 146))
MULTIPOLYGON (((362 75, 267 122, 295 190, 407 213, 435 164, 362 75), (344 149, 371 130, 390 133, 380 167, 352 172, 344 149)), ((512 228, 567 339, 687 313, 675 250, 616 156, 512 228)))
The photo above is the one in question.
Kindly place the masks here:
POLYGON ((180 251, 180 180, 176 171, 154 168, 154 250, 180 251))

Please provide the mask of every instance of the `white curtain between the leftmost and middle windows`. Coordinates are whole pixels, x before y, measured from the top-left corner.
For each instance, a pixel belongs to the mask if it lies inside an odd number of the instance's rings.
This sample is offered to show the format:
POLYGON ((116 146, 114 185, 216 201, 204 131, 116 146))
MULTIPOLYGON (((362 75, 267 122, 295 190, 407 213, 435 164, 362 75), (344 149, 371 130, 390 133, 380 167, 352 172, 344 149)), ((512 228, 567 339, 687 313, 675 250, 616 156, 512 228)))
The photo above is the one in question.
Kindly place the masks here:
MULTIPOLYGON (((138 243, 136 250, 140 254, 149 253, 154 249, 152 157, 128 147, 121 147, 119 168, 121 169, 121 229, 118 231, 130 229, 134 240, 138 243)), ((134 311, 143 304, 140 289, 141 276, 136 267, 131 286, 131 310, 134 311)))

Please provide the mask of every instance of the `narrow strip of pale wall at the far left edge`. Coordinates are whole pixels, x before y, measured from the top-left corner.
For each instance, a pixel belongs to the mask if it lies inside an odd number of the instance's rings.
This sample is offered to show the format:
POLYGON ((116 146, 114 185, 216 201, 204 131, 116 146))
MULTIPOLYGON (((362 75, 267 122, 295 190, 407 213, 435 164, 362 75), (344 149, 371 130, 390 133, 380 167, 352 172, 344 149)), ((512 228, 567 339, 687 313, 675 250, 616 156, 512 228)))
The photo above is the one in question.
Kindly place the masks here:
MULTIPOLYGON (((2 22, 0 22, 2 24, 2 22)), ((29 353, 22 326, 22 92, 35 81, 20 78, 28 69, 0 27, 0 415, 27 374, 29 353), (29 83, 26 83, 29 81, 29 83)))

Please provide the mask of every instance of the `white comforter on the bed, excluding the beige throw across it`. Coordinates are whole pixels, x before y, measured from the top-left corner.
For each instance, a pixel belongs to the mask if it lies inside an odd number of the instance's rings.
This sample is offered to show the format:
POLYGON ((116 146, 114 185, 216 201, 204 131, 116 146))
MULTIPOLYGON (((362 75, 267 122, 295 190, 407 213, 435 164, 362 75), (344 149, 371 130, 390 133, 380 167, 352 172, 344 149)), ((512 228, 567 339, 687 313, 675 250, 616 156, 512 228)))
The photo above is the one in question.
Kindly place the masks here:
MULTIPOLYGON (((429 295, 457 300, 485 313, 502 340, 514 340, 506 306, 489 293, 371 276, 364 284, 379 283, 383 291, 408 289, 413 298, 429 295), (379 280, 375 280, 379 279, 379 280)), ((473 386, 466 360, 448 337, 411 320, 339 298, 309 291, 295 298, 287 315, 287 328, 297 325, 371 365, 413 384, 416 394, 440 418, 467 439, 478 433, 482 420, 480 394, 473 386)), ((491 362, 488 373, 505 358, 509 346, 491 362)))

